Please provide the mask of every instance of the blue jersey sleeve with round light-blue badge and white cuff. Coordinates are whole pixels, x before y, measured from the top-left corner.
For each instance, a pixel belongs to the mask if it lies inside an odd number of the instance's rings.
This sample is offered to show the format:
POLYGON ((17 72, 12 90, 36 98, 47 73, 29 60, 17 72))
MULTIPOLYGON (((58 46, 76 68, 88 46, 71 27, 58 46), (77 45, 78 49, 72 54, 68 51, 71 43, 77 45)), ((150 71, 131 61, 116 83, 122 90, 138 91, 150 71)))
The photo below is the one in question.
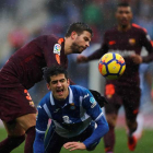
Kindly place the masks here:
POLYGON ((104 115, 102 108, 89 90, 84 91, 82 106, 94 121, 97 121, 104 115))

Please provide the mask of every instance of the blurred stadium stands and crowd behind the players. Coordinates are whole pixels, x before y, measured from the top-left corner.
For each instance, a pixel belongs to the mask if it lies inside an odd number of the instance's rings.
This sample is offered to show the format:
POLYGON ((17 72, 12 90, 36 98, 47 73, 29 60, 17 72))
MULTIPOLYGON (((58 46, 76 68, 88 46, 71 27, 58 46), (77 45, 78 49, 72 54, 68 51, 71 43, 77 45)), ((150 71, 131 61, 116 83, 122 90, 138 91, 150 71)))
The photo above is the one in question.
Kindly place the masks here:
MULTIPOLYGON (((17 48, 33 38, 43 34, 56 34, 63 37, 67 27, 78 21, 87 23, 94 31, 91 47, 83 52, 84 55, 91 54, 99 47, 104 32, 116 24, 114 13, 116 4, 120 1, 127 1, 131 4, 133 22, 145 27, 153 39, 153 0, 1 0, 0 68, 17 48)), ((142 55, 145 55, 145 49, 142 50, 142 55)), ((97 61, 78 64, 75 59, 76 55, 69 56, 70 78, 76 84, 98 90, 103 94, 105 79, 96 69, 97 61)), ((151 67, 149 70, 152 76, 153 68, 151 67)), ((143 97, 146 101, 141 103, 143 126, 153 136, 152 89, 143 83, 141 86, 148 89, 148 93, 143 97)), ((35 105, 47 92, 44 81, 30 90, 35 105)), ((2 128, 1 121, 0 127, 2 128)), ((125 128, 122 108, 119 113, 117 128, 125 128)), ((1 134, 0 140, 2 140, 1 134)))

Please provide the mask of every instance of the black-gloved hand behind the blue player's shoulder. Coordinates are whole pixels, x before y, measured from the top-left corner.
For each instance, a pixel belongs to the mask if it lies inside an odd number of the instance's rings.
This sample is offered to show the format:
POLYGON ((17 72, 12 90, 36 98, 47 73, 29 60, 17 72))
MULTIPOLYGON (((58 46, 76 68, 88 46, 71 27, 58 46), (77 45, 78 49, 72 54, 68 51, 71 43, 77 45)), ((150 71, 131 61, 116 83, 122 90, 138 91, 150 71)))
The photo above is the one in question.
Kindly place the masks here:
POLYGON ((94 98, 98 103, 101 107, 104 107, 105 104, 108 104, 107 99, 101 95, 97 91, 90 90, 90 92, 93 94, 94 98))

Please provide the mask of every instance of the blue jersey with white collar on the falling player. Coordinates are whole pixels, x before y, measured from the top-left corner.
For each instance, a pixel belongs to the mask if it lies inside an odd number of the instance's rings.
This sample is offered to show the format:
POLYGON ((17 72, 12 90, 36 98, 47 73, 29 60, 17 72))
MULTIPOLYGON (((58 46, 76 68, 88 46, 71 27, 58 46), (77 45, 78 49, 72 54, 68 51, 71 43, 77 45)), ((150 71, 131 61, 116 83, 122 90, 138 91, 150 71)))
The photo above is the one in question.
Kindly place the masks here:
POLYGON ((50 118, 56 126, 55 131, 66 138, 79 136, 92 120, 96 122, 104 118, 102 108, 90 91, 79 85, 70 85, 69 96, 62 102, 56 101, 49 92, 37 109, 36 131, 45 133, 50 118))

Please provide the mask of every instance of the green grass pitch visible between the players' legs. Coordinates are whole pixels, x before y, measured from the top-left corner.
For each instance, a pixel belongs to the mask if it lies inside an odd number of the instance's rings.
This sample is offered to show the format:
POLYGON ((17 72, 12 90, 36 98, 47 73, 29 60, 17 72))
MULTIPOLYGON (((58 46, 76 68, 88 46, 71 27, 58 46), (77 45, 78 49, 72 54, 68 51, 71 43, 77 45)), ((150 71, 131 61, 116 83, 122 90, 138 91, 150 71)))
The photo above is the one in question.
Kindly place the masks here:
MULTIPOLYGON (((0 141, 7 137, 5 130, 0 129, 0 141)), ((11 153, 23 153, 24 143, 11 153)), ((70 153, 62 149, 61 153, 70 153)), ((86 151, 73 151, 73 153, 87 153, 86 151)), ((103 140, 97 145, 96 150, 91 153, 104 153, 103 140)), ((116 145, 115 153, 130 153, 127 146, 127 136, 125 129, 116 129, 116 145)), ((153 153, 153 130, 144 130, 141 140, 139 140, 137 149, 132 153, 153 153)))

